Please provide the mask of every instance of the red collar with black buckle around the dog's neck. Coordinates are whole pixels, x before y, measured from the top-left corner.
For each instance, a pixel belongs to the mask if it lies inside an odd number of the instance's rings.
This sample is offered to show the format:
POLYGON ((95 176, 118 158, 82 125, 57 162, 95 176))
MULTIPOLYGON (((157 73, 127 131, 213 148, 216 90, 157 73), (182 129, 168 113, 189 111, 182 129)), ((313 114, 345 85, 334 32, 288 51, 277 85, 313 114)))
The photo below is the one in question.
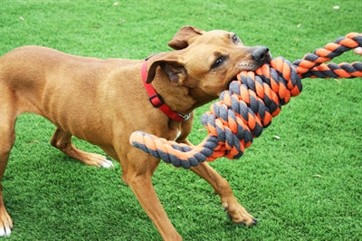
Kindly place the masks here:
POLYGON ((162 99, 162 97, 157 94, 157 92, 155 91, 155 89, 152 86, 152 83, 147 83, 147 77, 148 77, 148 61, 146 60, 143 64, 142 64, 142 68, 141 68, 141 76, 142 76, 142 81, 143 84, 145 85, 146 91, 148 92, 148 100, 151 102, 151 104, 155 107, 158 108, 160 111, 164 112, 171 120, 175 120, 175 121, 183 121, 183 120, 188 120, 190 118, 190 114, 180 114, 174 110, 172 110, 166 103, 165 101, 162 99))

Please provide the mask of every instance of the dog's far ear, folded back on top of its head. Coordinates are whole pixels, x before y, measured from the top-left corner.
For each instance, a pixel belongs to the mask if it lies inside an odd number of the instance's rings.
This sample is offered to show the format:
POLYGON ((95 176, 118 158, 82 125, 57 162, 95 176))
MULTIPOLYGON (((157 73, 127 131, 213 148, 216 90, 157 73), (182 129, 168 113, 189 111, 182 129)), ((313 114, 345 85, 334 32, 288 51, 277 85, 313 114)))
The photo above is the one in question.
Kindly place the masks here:
POLYGON ((193 26, 184 26, 175 34, 175 36, 168 42, 168 46, 173 49, 185 49, 188 45, 194 42, 195 37, 204 34, 204 30, 200 30, 193 26))

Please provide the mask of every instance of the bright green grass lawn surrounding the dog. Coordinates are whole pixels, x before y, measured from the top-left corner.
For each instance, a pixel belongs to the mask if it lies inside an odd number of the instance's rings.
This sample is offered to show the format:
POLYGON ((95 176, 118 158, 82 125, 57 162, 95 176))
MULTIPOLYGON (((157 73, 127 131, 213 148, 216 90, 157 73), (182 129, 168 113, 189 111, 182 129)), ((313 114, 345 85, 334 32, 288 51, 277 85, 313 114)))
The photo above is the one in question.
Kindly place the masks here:
MULTIPOLYGON (((84 56, 141 59, 169 50, 182 25, 226 29, 273 56, 301 58, 338 36, 362 32, 362 2, 0 0, 0 54, 39 44, 84 56), (339 5, 339 9, 332 7, 339 5)), ((362 61, 346 53, 335 62, 362 61)), ((362 82, 303 80, 242 159, 212 163, 258 218, 236 226, 205 181, 161 163, 157 194, 186 240, 357 240, 362 236, 362 82), (274 138, 279 136, 280 140, 274 138)), ((190 140, 207 134, 196 111, 190 140)), ((0 117, 1 118, 1 117, 0 117)), ((9 240, 159 240, 121 169, 96 169, 49 144, 54 127, 26 114, 3 179, 14 220, 9 240)), ((1 137, 0 137, 1 138, 1 137)), ((100 149, 75 140, 88 151, 100 149)))

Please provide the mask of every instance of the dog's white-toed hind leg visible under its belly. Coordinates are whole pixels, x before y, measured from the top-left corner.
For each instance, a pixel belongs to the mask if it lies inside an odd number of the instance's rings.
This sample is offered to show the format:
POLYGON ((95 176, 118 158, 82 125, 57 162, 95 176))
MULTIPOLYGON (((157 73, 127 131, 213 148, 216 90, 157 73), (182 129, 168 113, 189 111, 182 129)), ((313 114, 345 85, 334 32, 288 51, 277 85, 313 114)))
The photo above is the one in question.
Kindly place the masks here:
POLYGON ((62 150, 65 154, 67 154, 72 159, 79 159, 86 165, 103 167, 103 168, 111 168, 113 167, 113 163, 110 159, 100 155, 82 151, 81 149, 77 149, 71 143, 71 133, 65 132, 64 130, 57 128, 55 130, 51 144, 53 147, 62 150))

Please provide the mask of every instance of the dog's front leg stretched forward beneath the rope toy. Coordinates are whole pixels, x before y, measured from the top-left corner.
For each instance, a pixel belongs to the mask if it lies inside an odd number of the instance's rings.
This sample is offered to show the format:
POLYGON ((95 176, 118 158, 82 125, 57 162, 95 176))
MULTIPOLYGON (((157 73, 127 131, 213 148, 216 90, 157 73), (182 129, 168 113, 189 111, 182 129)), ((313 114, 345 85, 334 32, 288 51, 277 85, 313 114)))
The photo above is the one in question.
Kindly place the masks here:
POLYGON ((201 162, 197 167, 192 167, 198 176, 204 178, 214 188, 214 192, 220 196, 224 210, 232 218, 234 223, 243 223, 247 226, 256 224, 256 220, 241 206, 233 196, 229 183, 220 176, 207 162, 201 162))

